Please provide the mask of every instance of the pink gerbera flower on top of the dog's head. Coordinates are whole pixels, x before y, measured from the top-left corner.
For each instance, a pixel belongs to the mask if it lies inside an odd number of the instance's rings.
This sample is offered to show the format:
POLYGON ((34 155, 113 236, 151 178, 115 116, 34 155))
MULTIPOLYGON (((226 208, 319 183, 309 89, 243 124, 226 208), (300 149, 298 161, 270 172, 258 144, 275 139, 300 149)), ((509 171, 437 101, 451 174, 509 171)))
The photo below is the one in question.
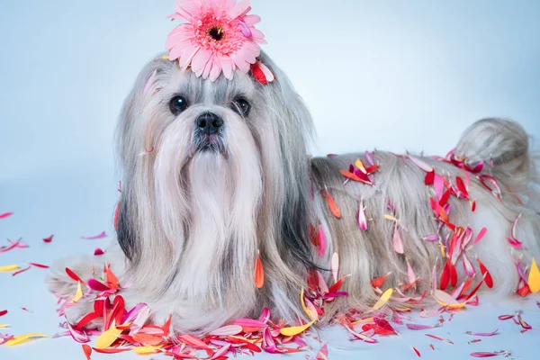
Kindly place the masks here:
POLYGON ((191 67, 196 76, 215 81, 223 72, 229 80, 236 69, 247 73, 257 62, 266 43, 255 28, 261 21, 248 15, 250 0, 177 0, 172 19, 187 23, 177 26, 166 40, 170 60, 182 69, 191 67))

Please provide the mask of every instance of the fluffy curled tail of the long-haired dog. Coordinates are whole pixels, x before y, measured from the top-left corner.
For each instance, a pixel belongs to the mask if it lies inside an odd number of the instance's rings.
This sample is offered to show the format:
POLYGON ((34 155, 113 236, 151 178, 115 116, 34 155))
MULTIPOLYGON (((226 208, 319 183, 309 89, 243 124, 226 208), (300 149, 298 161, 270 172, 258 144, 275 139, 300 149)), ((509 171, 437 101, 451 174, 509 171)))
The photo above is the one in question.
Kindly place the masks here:
POLYGON ((469 164, 483 161, 484 174, 493 175, 528 208, 540 211, 538 157, 529 145, 527 132, 516 121, 482 119, 464 131, 455 156, 469 164))

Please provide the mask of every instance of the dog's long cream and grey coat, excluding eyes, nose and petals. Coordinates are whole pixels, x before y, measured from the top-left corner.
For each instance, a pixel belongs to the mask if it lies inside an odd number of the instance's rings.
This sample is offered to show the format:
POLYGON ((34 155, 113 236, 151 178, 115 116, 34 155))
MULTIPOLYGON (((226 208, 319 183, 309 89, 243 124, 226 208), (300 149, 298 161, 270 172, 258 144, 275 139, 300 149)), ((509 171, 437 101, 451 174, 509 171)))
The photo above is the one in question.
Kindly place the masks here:
MULTIPOLYGON (((276 77, 268 85, 239 72, 232 81, 219 78, 211 83, 157 58, 144 67, 126 99, 118 125, 122 193, 117 240, 105 259, 121 275, 122 284, 130 284, 122 293, 128 306, 147 302, 157 321, 172 313, 177 331, 205 332, 235 318, 257 316, 265 306, 276 318, 304 319, 299 298, 307 272, 316 266, 329 269, 335 252, 339 275, 352 276, 343 288, 349 296, 329 305, 329 317, 373 304, 374 277, 392 272, 386 285, 405 283, 406 258, 425 279, 417 291, 427 290, 440 250, 421 239, 437 233, 425 174, 410 161, 377 151, 374 158, 381 171, 375 175, 376 185, 344 184, 339 170, 363 156, 309 160, 310 113, 284 73, 265 54, 260 59, 276 77), (149 84, 148 78, 153 78, 149 84), (169 102, 178 94, 190 106, 173 114, 169 102), (235 112, 237 96, 251 103, 246 116, 235 112), (195 119, 202 112, 224 121, 215 146, 200 146, 195 119), (141 156, 145 148, 154 151, 141 156), (321 189, 328 189, 338 202, 342 219, 329 212, 321 189), (361 199, 370 219, 368 231, 357 227, 361 199), (393 251, 393 224, 383 219, 389 200, 407 229, 402 232, 405 256, 393 251), (327 234, 324 257, 311 245, 310 222, 320 223, 327 234), (265 268, 262 289, 253 281, 257 254, 265 268)), ((505 185, 500 202, 473 177, 470 192, 478 210, 472 212, 469 202, 453 199, 451 216, 475 233, 489 229, 482 242, 467 250, 468 256, 482 257, 498 284, 496 292, 512 293, 518 276, 504 236, 509 220, 519 213, 524 256, 540 257, 540 197, 527 133, 513 121, 478 121, 465 131, 455 152, 473 161, 493 160, 495 165, 484 171, 505 185)), ((463 174, 455 166, 424 161, 437 173, 463 174)), ((65 267, 89 278, 92 262, 83 257, 58 261, 49 273, 50 290, 73 295, 76 284, 65 275, 65 267)), ((329 271, 323 274, 330 277, 329 271)), ((91 306, 81 302, 70 307, 68 320, 76 322, 91 306)))

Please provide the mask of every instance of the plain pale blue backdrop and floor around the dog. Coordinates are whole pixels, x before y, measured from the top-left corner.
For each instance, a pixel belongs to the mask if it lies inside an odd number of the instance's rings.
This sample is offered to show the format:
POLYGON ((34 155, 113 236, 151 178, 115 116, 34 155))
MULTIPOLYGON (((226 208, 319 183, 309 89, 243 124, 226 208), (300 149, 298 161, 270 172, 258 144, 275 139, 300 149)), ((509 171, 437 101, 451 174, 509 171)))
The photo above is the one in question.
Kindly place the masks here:
MULTIPOLYGON (((50 264, 106 246, 110 238, 89 243, 80 236, 112 232, 113 127, 139 68, 164 49, 175 26, 166 20, 174 4, 1 0, 0 213, 15 214, 0 222, 0 244, 23 236, 31 248, 0 254, 0 266, 50 264), (53 242, 43 244, 41 238, 52 233, 53 242)), ((466 126, 485 116, 514 118, 540 137, 540 1, 253 0, 253 8, 263 18, 258 28, 269 42, 264 49, 313 113, 320 134, 315 154, 377 147, 443 155, 466 126)), ((2 319, 13 325, 9 332, 58 330, 43 274, 31 269, 0 276, 0 310, 10 310, 2 319), (34 313, 20 311, 23 306, 34 313)), ((490 319, 504 312, 484 311, 490 319)), ((460 333, 492 330, 473 329, 485 315, 475 314, 460 314, 460 333)), ((538 311, 529 314, 531 323, 540 319, 538 311)), ((487 328, 497 326, 491 321, 487 328)), ((517 355, 537 354, 537 329, 509 338, 518 329, 505 326, 503 339, 520 349, 517 355)), ((445 325, 438 335, 450 329, 445 325)), ((385 341, 410 358, 410 345, 420 344, 414 338, 385 341)), ((498 342, 434 353, 427 353, 427 344, 419 349, 426 358, 464 358, 470 351, 501 349, 498 342)), ((391 358, 390 347, 370 349, 365 354, 391 358)), ((42 358, 44 352, 82 358, 80 347, 62 339, 0 348, 0 359, 42 358)), ((347 354, 358 356, 342 356, 347 354)))

